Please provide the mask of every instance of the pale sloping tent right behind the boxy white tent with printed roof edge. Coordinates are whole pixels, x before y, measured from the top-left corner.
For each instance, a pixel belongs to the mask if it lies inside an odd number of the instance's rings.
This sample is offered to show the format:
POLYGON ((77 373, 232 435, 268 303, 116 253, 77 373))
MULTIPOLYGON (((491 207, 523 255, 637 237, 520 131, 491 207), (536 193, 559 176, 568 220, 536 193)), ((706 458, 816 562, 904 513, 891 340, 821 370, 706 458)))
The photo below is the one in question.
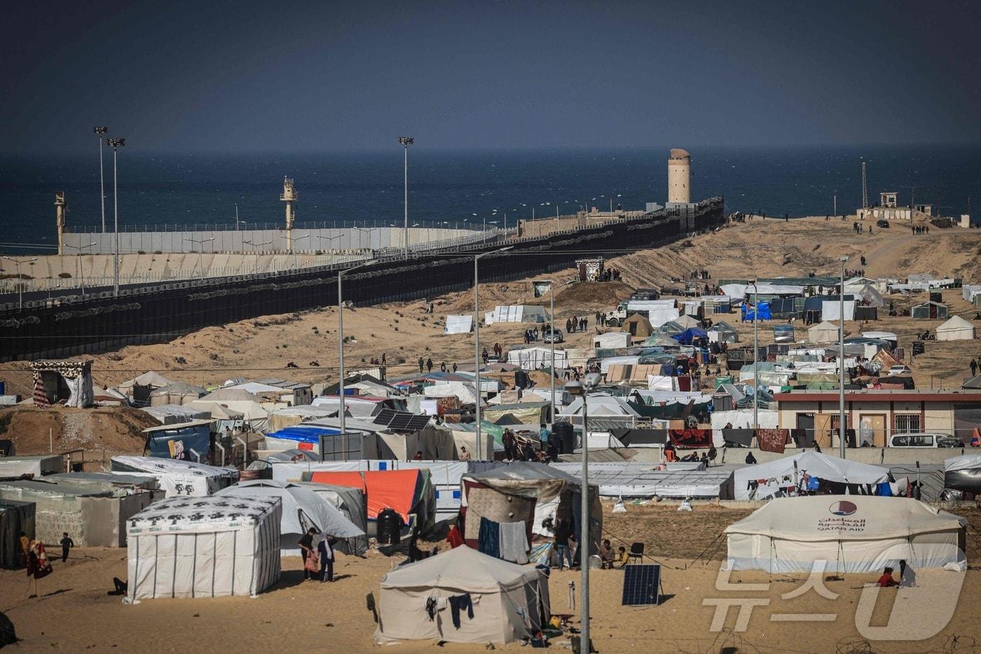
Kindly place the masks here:
POLYGON ((216 497, 280 498, 283 515, 280 524, 283 556, 299 556, 297 543, 313 527, 318 533, 337 538, 354 538, 365 535, 349 519, 344 518, 331 502, 309 488, 288 481, 252 479, 241 481, 215 493, 216 497))

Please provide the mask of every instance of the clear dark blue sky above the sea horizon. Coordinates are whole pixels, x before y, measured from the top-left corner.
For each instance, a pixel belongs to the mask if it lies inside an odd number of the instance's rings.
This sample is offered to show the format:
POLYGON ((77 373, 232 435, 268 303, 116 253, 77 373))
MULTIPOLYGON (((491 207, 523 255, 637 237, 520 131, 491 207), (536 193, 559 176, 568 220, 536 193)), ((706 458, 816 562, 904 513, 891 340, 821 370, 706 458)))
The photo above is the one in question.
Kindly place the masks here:
POLYGON ((981 142, 981 3, 9 3, 0 152, 981 142))

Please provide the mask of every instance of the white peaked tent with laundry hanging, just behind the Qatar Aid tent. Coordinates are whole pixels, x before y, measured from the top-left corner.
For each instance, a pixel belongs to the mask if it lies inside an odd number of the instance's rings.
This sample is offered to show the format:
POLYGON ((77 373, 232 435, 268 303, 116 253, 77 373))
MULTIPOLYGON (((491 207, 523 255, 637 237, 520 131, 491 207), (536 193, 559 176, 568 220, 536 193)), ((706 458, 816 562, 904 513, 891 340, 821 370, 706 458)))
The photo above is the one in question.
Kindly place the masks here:
POLYGON ((817 452, 804 452, 735 470, 733 498, 765 500, 779 493, 781 488, 800 483, 804 472, 824 481, 838 483, 878 484, 889 481, 888 468, 837 459, 817 452), (764 483, 759 483, 760 479, 764 483))

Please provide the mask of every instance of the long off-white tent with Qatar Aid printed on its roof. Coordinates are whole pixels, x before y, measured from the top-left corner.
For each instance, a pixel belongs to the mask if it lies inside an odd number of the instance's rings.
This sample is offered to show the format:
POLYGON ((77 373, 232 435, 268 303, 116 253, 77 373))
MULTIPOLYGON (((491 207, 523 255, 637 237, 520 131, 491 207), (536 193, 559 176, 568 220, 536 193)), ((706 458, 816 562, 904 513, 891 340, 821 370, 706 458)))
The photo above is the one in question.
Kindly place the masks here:
POLYGON ((849 495, 773 500, 726 527, 730 570, 882 572, 963 561, 967 521, 912 498, 849 495))

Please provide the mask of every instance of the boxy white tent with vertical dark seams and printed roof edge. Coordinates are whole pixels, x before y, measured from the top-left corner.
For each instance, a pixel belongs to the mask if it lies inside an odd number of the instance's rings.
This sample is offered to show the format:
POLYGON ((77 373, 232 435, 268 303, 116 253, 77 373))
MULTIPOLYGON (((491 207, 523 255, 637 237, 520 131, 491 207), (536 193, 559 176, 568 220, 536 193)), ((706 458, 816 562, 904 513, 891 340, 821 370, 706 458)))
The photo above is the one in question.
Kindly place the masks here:
POLYGON ((128 522, 130 600, 252 595, 280 579, 272 498, 172 498, 128 522))

